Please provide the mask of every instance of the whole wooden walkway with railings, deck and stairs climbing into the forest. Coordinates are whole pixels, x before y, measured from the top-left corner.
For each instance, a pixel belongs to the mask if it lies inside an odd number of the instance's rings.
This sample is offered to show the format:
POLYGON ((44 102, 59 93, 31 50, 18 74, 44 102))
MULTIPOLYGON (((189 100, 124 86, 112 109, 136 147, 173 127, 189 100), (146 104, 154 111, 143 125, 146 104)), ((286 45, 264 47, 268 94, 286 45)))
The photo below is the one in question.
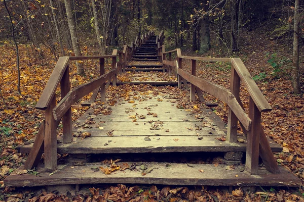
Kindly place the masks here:
POLYGON ((5 185, 299 186, 300 180, 274 158, 273 152, 281 152, 282 147, 268 139, 261 126, 261 113, 270 111, 271 106, 241 59, 188 57, 180 49, 166 52, 163 38, 163 32, 158 36, 149 32, 130 46, 125 45, 122 52, 114 50, 109 56, 60 57, 36 105, 45 111, 45 119, 34 143, 19 147, 28 158, 24 166, 4 180, 5 185), (106 58, 112 61, 107 73, 106 58), (70 89, 69 62, 91 59, 99 60, 100 76, 70 89), (183 70, 183 59, 191 60, 191 73, 183 70), (138 61, 138 65, 130 61, 138 61), (231 63, 230 90, 197 77, 197 61, 231 63), (136 74, 133 81, 119 81, 127 71, 153 72, 145 81, 136 74), (159 79, 164 75, 173 79, 159 79), (250 95, 248 114, 239 96, 241 81, 250 95), (56 104, 59 84, 61 99, 56 104), (117 85, 118 93, 121 85, 130 85, 130 90, 118 96, 117 103, 104 104, 113 96, 106 93, 110 85, 117 85), (83 103, 90 109, 72 123, 71 105, 92 91, 91 99, 83 103), (205 102, 203 92, 229 106, 226 127, 208 104, 199 110, 184 109, 181 103, 196 99, 205 102), (94 103, 98 93, 100 105, 94 103), (186 93, 190 100, 185 100, 186 93), (63 136, 57 136, 61 121, 63 136), (238 124, 246 135, 242 137, 245 142, 237 141, 238 124), (68 156, 62 162, 57 154, 68 156), (34 168, 38 175, 28 172, 34 168))

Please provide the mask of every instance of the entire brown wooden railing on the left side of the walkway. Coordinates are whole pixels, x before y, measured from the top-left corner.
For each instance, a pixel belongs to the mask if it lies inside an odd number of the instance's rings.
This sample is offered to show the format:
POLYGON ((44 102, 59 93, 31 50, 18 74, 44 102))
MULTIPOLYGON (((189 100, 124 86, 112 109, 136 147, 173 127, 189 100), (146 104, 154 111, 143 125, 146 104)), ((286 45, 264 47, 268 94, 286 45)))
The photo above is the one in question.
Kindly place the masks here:
POLYGON ((117 74, 121 74, 131 60, 136 49, 148 37, 154 35, 149 32, 141 37, 136 38, 131 47, 125 45, 123 52, 117 49, 113 50, 109 56, 80 56, 80 57, 60 57, 51 74, 51 77, 36 104, 36 109, 45 111, 45 120, 43 121, 39 132, 37 133, 34 144, 30 150, 25 162, 25 169, 34 168, 40 161, 42 153, 45 154, 45 169, 54 171, 57 169, 57 127, 62 120, 63 125, 63 143, 70 143, 72 136, 72 114, 71 106, 80 98, 93 91, 93 95, 88 104, 95 102, 97 94, 101 94, 101 102, 105 102, 105 89, 112 82, 116 85, 117 74), (108 73, 105 73, 104 59, 112 60, 112 67, 108 73), (119 58, 119 62, 117 61, 119 58), (73 60, 99 60, 100 76, 87 83, 70 89, 69 81, 69 62, 73 60), (56 89, 60 84, 61 100, 56 105, 56 89))

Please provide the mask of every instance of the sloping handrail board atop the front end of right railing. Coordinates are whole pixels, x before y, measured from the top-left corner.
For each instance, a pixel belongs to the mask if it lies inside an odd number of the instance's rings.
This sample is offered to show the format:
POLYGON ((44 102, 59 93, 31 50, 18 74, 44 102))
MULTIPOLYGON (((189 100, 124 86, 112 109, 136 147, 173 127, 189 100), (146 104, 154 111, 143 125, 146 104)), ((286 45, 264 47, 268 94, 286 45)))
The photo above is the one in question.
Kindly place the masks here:
POLYGON ((257 109, 260 112, 271 111, 272 110, 271 106, 269 105, 266 98, 264 97, 264 95, 256 85, 255 81, 248 72, 242 60, 239 58, 234 58, 232 59, 232 65, 234 66, 234 69, 237 71, 238 75, 243 81, 257 109))

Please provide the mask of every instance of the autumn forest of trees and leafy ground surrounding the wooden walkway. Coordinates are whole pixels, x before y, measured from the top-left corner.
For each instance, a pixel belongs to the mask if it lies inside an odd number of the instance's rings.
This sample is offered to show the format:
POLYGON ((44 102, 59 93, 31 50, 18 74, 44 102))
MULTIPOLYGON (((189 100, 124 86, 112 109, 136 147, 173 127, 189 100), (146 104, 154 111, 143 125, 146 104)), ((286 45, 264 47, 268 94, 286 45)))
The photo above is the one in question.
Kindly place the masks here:
MULTIPOLYGON (((110 55, 149 30, 164 31, 166 50, 241 58, 274 109, 262 120, 268 118, 264 130, 284 147, 278 163, 304 179, 302 12, 299 0, 2 0, 1 180, 24 161, 15 148, 39 128, 42 114, 34 106, 58 58, 110 55)), ((71 84, 95 78, 96 66, 74 63, 71 84)), ((200 77, 226 87, 229 72, 221 63, 198 68, 200 77)), ((215 110, 225 121, 226 107, 215 110)))

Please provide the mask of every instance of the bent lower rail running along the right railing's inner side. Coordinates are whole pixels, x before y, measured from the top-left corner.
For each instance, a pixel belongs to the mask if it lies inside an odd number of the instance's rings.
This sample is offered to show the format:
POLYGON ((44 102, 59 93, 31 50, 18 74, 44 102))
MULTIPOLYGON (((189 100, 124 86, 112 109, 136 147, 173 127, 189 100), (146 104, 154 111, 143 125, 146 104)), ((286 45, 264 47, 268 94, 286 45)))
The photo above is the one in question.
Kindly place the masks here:
POLYGON ((227 89, 214 84, 210 81, 192 76, 191 74, 186 73, 184 70, 178 69, 178 74, 185 78, 187 81, 201 88, 202 90, 212 94, 213 96, 219 98, 233 110, 233 112, 238 117, 239 121, 245 126, 247 130, 250 129, 251 120, 241 108, 237 102, 235 96, 227 89))

